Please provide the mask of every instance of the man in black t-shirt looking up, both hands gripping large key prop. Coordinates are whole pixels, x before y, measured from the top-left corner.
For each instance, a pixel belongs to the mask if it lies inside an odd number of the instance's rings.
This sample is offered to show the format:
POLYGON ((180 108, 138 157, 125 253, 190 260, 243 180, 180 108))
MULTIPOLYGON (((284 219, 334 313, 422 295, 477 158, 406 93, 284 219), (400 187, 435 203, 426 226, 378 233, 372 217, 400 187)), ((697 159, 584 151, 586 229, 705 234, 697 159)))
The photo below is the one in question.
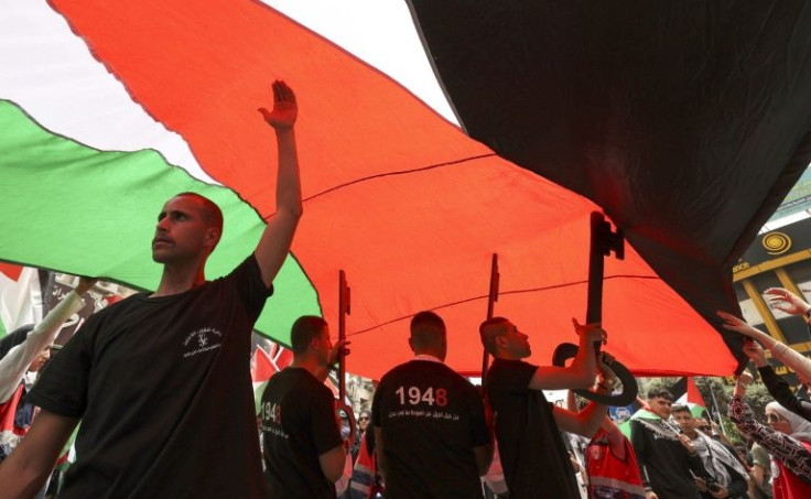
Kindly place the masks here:
MULTIPOLYGON (((547 402, 542 390, 585 389, 597 372, 596 341, 606 333, 598 324, 580 325, 580 348, 569 367, 533 366, 529 337, 504 317, 485 321, 482 343, 495 360, 487 371, 486 392, 496 423, 498 452, 510 498, 580 498, 574 470, 560 430, 591 437, 607 408, 591 403, 580 413, 547 402)), ((613 382, 598 390, 610 393, 613 382)))

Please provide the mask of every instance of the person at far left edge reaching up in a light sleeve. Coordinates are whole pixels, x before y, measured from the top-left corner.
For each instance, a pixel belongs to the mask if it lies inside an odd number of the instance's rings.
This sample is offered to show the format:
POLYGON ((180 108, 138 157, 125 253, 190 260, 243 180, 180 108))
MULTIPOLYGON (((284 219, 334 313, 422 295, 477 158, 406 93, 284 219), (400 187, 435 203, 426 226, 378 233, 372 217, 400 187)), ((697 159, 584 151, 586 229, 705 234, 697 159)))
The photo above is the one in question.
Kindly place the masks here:
POLYGON ((23 397, 34 386, 36 375, 51 357, 51 347, 62 325, 83 306, 82 295, 96 283, 79 278, 79 284, 48 312, 35 327, 23 326, 3 338, 0 358, 0 463, 28 432, 34 408, 23 397))

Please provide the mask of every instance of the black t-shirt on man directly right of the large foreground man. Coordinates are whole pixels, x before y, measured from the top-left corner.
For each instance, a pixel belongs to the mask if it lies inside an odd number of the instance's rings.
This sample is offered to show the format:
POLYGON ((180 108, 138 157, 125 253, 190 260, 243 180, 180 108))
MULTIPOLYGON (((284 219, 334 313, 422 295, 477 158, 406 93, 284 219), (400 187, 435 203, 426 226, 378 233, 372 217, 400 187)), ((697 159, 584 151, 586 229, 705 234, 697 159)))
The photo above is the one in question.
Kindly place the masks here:
POLYGON ((335 399, 306 369, 289 367, 262 393, 264 465, 273 498, 335 498, 318 456, 343 443, 335 399))

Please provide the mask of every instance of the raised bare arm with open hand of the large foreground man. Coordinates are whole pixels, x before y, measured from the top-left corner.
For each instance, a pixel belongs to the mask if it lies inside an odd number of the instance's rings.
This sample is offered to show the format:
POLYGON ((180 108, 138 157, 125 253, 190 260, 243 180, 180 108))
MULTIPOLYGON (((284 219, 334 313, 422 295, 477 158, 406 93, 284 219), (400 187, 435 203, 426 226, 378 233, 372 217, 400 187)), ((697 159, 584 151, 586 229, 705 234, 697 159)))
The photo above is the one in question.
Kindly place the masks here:
POLYGON ((279 172, 275 183, 275 213, 268 218, 268 226, 257 245, 255 256, 262 272, 262 281, 270 286, 279 273, 293 242, 303 208, 299 156, 295 150, 293 124, 299 108, 293 90, 284 82, 273 82, 273 110, 259 109, 264 120, 275 130, 279 150, 279 172))

